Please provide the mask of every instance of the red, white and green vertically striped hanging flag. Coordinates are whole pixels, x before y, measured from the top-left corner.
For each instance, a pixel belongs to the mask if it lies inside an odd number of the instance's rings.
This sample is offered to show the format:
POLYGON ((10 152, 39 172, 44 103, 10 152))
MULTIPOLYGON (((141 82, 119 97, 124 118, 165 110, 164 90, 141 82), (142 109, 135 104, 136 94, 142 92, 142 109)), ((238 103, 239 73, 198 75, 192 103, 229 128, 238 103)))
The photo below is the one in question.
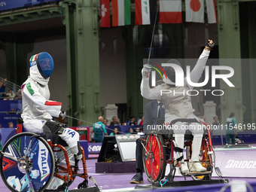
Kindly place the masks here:
POLYGON ((112 0, 112 26, 131 24, 131 0, 112 0))

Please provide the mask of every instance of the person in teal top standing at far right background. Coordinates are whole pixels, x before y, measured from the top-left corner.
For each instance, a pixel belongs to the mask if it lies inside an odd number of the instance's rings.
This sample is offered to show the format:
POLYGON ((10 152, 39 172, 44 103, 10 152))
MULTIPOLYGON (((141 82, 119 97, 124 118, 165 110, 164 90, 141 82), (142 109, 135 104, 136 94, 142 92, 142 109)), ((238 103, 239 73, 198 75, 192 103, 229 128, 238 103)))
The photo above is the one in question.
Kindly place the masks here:
POLYGON ((237 135, 236 133, 236 129, 234 129, 233 127, 236 126, 236 119, 234 118, 235 114, 232 112, 230 113, 230 116, 227 117, 227 130, 226 130, 226 140, 227 140, 227 145, 230 144, 230 139, 232 140, 232 144, 235 144, 236 139, 235 139, 235 135, 237 135))

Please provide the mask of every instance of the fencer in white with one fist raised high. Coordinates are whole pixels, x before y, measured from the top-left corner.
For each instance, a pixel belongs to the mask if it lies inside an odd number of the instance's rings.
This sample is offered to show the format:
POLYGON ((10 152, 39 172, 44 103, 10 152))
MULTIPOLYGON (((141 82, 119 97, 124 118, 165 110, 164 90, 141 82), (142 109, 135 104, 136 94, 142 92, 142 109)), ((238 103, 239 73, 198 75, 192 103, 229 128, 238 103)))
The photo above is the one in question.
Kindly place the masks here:
MULTIPOLYGON (((212 41, 208 41, 208 43, 211 45, 213 44, 212 41)), ((190 80, 192 82, 197 83, 200 80, 205 69, 209 53, 210 48, 206 45, 206 48, 200 55, 200 58, 198 59, 196 66, 190 72, 190 80)), ((169 60, 169 63, 176 64, 181 67, 181 64, 175 59, 169 60)), ((193 90, 194 87, 190 86, 190 84, 187 83, 187 78, 184 78, 184 87, 175 87, 175 70, 171 66, 165 66, 163 67, 163 70, 166 72, 167 76, 167 79, 165 77, 163 78, 165 84, 158 85, 157 87, 154 87, 154 89, 151 89, 149 87, 149 76, 151 72, 151 66, 143 66, 141 83, 142 96, 145 99, 157 99, 163 103, 165 107, 165 124, 170 123, 172 120, 178 118, 197 119, 197 117, 193 114, 194 109, 192 108, 191 98, 187 94, 187 90, 193 90), (165 93, 161 93, 162 90, 165 90, 165 93)), ((184 134, 186 130, 186 125, 190 127, 189 130, 194 136, 192 144, 193 151, 191 156, 191 163, 189 164, 189 170, 187 169, 184 160, 181 160, 181 171, 206 171, 206 168, 203 167, 200 163, 198 163, 198 156, 200 153, 200 147, 203 138, 202 126, 198 126, 197 123, 175 123, 175 125, 173 126, 175 127, 175 129, 173 129, 173 132, 175 133, 175 142, 177 143, 178 148, 184 148, 184 134)), ((179 157, 183 156, 183 153, 181 152, 179 152, 178 154, 179 157)))

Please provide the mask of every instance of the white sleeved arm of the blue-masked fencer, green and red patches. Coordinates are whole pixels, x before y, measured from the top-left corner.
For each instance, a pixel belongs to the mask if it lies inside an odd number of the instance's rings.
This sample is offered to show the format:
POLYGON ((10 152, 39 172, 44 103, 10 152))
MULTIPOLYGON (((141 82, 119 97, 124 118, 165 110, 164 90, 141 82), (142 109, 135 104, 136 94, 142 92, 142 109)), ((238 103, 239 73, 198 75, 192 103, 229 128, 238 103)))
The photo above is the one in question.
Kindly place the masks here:
MULTIPOLYGON (((38 87, 32 82, 26 82, 22 85, 23 94, 25 94, 35 105, 47 111, 53 117, 59 117, 62 102, 50 101, 44 98, 38 91, 38 87)), ((29 105, 29 102, 27 103, 29 105)))

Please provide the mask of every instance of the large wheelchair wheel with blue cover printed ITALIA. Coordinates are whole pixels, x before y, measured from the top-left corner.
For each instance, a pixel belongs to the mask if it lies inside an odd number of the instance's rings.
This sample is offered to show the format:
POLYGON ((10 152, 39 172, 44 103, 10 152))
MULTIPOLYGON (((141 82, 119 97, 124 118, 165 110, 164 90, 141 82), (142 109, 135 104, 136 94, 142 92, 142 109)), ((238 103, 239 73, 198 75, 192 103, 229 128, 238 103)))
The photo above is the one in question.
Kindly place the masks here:
POLYGON ((2 149, 0 172, 5 185, 14 192, 43 191, 54 173, 50 145, 35 133, 13 136, 2 149))

